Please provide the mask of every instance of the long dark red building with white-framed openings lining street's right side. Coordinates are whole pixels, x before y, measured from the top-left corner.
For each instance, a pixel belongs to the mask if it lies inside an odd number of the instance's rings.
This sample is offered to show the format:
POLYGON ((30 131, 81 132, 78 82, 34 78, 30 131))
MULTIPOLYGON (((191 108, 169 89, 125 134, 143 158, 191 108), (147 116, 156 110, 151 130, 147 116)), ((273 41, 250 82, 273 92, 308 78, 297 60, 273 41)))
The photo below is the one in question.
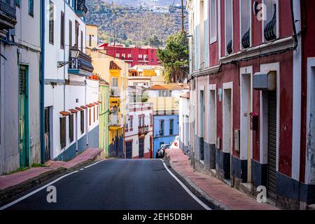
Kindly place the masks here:
POLYGON ((251 195, 265 186, 279 207, 314 204, 315 1, 187 6, 196 167, 251 195))

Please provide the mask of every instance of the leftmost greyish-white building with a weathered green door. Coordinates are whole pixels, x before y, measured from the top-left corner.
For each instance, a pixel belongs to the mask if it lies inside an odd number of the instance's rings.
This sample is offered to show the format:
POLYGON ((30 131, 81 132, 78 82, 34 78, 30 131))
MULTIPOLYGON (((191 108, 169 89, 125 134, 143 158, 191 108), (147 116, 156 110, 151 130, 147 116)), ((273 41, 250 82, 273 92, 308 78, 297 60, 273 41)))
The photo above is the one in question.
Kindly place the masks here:
POLYGON ((0 175, 41 162, 40 8, 0 1, 0 175))

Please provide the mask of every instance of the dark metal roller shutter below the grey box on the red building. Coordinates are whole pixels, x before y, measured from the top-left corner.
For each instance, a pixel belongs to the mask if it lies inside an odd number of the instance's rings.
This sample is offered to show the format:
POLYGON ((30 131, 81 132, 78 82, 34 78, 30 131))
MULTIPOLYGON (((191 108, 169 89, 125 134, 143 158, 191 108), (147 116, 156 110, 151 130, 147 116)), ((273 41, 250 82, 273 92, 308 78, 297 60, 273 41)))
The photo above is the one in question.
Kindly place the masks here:
POLYGON ((276 197, 276 92, 268 96, 268 196, 276 197))

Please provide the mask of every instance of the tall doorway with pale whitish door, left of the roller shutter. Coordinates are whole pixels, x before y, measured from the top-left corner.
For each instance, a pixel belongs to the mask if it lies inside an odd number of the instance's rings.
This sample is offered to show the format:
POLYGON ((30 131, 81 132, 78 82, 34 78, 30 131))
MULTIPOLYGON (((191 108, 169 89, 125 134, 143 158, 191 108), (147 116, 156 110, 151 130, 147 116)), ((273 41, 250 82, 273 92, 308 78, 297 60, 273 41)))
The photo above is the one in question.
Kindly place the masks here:
POLYGON ((247 160, 247 183, 251 183, 252 132, 251 73, 241 75, 241 160, 247 160))

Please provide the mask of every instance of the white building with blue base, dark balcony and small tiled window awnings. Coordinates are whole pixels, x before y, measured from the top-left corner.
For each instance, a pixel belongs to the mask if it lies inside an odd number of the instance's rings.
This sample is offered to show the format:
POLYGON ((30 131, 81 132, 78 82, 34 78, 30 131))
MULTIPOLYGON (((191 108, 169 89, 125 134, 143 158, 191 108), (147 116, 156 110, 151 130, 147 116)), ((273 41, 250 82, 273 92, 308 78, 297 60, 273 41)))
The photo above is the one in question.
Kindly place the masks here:
POLYGON ((99 144, 99 82, 87 79, 93 71, 85 54, 87 8, 84 0, 45 6, 45 160, 71 160, 99 144))

